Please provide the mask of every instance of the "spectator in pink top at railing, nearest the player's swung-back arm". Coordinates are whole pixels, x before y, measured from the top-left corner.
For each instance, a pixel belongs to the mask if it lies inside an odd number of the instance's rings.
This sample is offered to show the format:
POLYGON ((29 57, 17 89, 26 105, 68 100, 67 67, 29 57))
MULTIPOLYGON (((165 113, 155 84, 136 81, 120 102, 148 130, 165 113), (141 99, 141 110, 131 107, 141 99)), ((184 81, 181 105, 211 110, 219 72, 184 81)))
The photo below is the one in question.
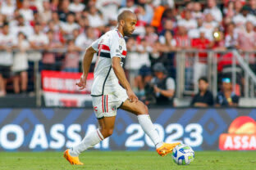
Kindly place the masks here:
POLYGON ((67 42, 67 53, 64 59, 63 71, 77 73, 79 70, 80 55, 75 47, 75 41, 73 39, 67 42))

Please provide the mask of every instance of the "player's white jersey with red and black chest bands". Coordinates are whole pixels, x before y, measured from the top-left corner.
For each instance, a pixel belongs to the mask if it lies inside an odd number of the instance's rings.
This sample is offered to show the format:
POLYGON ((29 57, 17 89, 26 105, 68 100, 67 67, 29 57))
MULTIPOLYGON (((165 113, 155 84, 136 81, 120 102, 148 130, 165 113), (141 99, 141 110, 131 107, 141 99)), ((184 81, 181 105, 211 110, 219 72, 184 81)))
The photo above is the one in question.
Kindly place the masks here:
MULTIPOLYGON (((102 96, 117 92, 120 84, 112 69, 112 57, 123 60, 126 57, 126 41, 117 29, 108 31, 95 42, 92 47, 97 51, 98 59, 94 69, 94 83, 91 96, 102 96)), ((122 66, 122 62, 120 65, 122 66)))

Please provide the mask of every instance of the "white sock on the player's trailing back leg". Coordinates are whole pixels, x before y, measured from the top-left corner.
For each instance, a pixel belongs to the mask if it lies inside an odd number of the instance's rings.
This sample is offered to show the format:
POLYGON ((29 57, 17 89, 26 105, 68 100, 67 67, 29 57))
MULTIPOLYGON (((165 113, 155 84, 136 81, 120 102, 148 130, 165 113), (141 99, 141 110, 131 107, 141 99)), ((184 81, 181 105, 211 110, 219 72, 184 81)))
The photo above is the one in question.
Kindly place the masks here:
POLYGON ((75 147, 72 147, 69 150, 69 154, 71 154, 71 156, 78 156, 83 151, 91 147, 94 147, 94 145, 97 145, 100 141, 103 141, 103 139, 104 137, 99 131, 99 129, 90 132, 87 136, 85 136, 85 138, 83 139, 83 141, 80 142, 80 144, 75 145, 75 147))

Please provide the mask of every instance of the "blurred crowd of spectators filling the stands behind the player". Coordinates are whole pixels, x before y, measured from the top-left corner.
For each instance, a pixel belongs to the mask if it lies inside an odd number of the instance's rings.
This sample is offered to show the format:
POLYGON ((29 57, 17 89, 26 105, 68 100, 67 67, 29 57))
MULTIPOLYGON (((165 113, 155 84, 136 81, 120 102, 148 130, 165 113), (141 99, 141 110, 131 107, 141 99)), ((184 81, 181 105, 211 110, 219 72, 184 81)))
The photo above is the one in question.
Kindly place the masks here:
MULTIPOLYGON (((27 91, 34 60, 40 69, 79 72, 85 48, 115 28, 117 15, 126 9, 138 22, 126 38, 125 69, 135 92, 149 103, 157 102, 150 90, 157 98, 174 96, 176 51, 256 50, 256 0, 0 0, 0 96, 7 92, 8 78, 15 93, 27 91)), ((197 84, 207 73, 208 54, 197 55, 193 71, 186 63, 187 84, 197 84)), ((254 53, 249 60, 254 65, 254 53)), ((223 69, 222 63, 218 71, 223 69)))

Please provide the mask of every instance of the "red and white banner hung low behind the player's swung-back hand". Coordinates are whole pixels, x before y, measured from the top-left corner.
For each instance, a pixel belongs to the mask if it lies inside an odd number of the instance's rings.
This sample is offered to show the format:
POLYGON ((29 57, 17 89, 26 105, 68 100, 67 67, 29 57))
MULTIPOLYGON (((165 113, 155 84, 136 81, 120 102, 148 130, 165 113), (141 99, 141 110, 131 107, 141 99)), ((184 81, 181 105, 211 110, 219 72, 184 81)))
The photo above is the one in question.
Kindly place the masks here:
POLYGON ((81 73, 67 73, 43 70, 42 87, 46 106, 83 106, 85 101, 91 101, 90 91, 94 74, 89 73, 86 88, 83 91, 75 85, 80 81, 81 73))

